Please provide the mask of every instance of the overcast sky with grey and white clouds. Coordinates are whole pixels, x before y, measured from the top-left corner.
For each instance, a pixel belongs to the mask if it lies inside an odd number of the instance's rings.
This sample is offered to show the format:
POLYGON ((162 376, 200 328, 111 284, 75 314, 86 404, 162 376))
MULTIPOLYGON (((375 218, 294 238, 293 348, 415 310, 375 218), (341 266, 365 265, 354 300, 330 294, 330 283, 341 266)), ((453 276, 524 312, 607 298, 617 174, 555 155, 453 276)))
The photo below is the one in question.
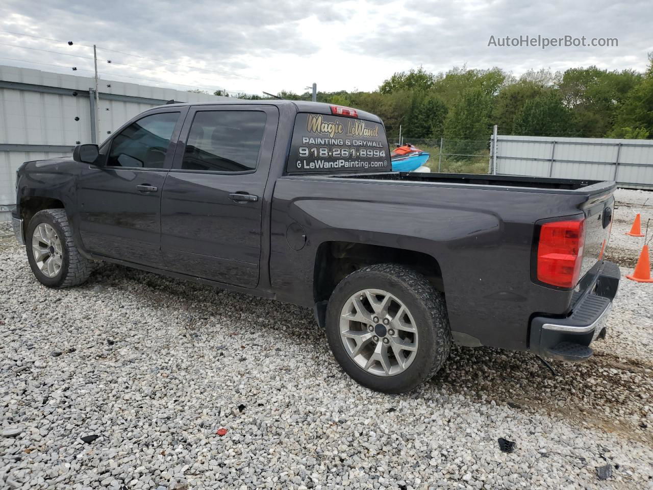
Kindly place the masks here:
POLYGON ((312 82, 324 91, 374 90, 419 65, 498 66, 515 75, 589 65, 643 70, 653 52, 650 0, 92 3, 3 0, 0 30, 36 37, 0 32, 0 64, 61 73, 76 66, 91 76, 88 46, 97 44, 106 80, 261 93, 302 92, 312 82), (492 36, 500 44, 527 35, 616 38, 618 46, 488 46, 492 36))

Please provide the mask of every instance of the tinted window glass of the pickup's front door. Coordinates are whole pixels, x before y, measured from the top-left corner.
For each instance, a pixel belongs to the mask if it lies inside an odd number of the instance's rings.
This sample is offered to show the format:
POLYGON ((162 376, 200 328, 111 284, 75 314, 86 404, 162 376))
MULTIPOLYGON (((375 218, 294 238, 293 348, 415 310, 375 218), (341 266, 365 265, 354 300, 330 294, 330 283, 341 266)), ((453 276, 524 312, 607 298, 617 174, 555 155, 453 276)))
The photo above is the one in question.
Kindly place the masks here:
POLYGON ((163 169, 179 112, 152 114, 125 127, 114 137, 106 165, 163 169))

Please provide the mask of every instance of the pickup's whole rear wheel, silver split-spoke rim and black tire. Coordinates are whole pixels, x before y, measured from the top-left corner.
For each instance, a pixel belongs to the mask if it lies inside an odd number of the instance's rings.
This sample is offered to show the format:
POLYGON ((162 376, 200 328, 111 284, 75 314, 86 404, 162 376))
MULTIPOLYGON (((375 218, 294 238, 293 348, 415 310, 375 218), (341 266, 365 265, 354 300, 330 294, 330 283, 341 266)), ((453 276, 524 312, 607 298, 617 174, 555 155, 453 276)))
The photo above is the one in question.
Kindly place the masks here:
POLYGON ((449 355, 444 295, 402 265, 364 267, 331 295, 327 339, 358 383, 385 393, 409 391, 432 378, 449 355))

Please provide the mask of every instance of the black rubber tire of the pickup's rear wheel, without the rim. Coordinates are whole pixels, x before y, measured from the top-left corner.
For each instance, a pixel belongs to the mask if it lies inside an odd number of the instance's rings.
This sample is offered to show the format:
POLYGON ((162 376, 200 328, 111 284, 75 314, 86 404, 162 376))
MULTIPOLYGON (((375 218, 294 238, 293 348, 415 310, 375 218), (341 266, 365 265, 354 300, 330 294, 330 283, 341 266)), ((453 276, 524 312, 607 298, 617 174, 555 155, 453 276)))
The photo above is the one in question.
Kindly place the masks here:
POLYGON ((443 293, 424 276, 398 264, 364 267, 345 277, 334 289, 327 306, 327 340, 340 366, 359 384, 384 393, 403 393, 429 380, 449 356, 451 327, 443 293), (401 299, 409 308, 419 333, 414 361, 395 376, 376 376, 357 365, 340 338, 340 314, 351 295, 377 288, 401 299))

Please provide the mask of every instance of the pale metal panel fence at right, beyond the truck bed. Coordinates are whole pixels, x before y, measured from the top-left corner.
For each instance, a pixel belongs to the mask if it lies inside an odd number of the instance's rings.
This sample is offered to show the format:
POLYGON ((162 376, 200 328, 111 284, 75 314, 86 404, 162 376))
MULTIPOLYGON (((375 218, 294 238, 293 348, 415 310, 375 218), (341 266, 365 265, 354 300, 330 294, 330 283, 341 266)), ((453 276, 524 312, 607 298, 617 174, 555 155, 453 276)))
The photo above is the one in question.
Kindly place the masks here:
POLYGON ((498 135, 490 169, 494 174, 616 180, 622 187, 653 189, 653 140, 498 135))

